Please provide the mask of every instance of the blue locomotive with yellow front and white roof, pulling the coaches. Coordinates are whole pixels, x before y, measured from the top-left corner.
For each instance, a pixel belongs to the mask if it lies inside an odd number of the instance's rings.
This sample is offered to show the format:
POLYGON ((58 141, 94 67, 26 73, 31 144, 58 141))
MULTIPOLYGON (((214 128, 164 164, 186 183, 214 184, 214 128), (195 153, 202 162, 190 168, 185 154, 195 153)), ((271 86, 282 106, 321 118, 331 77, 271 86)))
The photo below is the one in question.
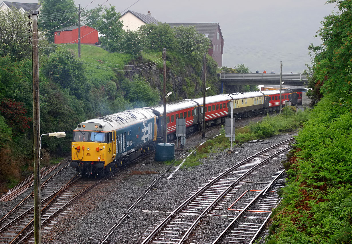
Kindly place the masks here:
POLYGON ((133 160, 154 145, 156 119, 151 110, 136 108, 78 124, 71 144, 71 166, 80 175, 102 177, 133 160))

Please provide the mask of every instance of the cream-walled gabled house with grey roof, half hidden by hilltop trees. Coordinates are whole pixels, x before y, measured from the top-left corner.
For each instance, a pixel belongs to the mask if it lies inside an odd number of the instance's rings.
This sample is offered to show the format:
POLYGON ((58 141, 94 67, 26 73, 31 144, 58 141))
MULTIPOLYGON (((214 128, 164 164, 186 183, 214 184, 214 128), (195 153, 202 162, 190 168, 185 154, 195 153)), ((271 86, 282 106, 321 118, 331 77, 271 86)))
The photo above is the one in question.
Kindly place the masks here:
POLYGON ((147 14, 141 14, 131 10, 122 14, 119 20, 124 24, 122 29, 125 31, 137 31, 139 26, 151 23, 157 25, 159 22, 156 18, 151 16, 150 11, 148 11, 147 14))

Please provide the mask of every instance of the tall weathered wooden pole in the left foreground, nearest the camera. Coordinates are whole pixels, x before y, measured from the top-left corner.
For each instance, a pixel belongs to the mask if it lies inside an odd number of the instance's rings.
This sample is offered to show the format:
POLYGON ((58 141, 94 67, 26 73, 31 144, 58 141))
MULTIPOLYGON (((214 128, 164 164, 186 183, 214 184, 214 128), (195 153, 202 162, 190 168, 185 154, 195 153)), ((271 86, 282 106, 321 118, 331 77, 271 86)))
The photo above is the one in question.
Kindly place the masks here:
POLYGON ((42 219, 40 208, 40 112, 39 112, 39 54, 38 54, 38 14, 32 11, 32 60, 33 60, 33 180, 34 180, 34 244, 42 243, 42 219))

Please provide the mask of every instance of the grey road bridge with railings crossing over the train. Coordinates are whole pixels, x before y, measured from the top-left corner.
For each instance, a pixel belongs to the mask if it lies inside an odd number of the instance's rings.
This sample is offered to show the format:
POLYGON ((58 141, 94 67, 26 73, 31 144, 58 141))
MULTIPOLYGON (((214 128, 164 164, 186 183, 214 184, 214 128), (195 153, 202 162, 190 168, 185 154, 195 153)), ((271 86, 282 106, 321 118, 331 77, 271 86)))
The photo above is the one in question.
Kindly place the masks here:
MULTIPOLYGON (((312 75, 308 75, 312 76, 312 75)), ((221 85, 280 85, 280 74, 220 73, 221 85)), ((285 86, 306 86, 303 74, 282 74, 285 86)))

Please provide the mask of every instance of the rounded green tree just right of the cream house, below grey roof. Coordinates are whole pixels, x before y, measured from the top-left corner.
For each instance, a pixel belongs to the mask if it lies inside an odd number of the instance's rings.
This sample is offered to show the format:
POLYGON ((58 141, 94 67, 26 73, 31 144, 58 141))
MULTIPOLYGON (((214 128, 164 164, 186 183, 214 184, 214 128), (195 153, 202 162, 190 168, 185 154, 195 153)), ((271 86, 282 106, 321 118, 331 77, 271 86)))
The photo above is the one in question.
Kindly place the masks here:
POLYGON ((154 51, 177 50, 175 34, 171 27, 166 23, 159 22, 156 24, 146 24, 139 27, 139 33, 142 39, 144 49, 154 51))

